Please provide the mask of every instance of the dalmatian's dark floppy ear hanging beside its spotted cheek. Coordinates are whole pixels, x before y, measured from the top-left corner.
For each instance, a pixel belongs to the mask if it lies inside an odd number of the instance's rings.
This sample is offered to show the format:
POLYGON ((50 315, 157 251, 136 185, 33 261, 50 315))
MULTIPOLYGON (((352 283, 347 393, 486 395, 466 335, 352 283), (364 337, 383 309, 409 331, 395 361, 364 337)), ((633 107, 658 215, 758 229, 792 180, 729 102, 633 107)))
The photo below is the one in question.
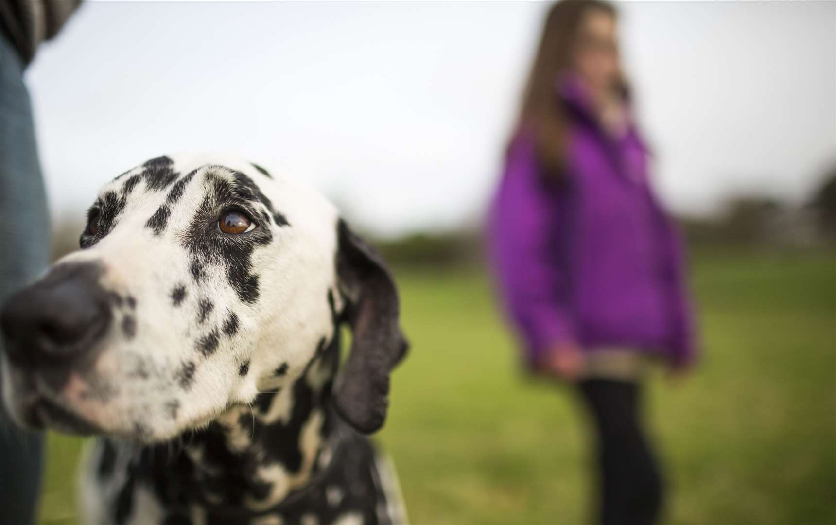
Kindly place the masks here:
POLYGON ((389 405, 389 374, 408 344, 400 332, 395 281, 380 253, 337 226, 337 278, 346 298, 343 319, 351 326, 351 353, 334 386, 334 405, 354 429, 366 434, 383 426, 389 405))

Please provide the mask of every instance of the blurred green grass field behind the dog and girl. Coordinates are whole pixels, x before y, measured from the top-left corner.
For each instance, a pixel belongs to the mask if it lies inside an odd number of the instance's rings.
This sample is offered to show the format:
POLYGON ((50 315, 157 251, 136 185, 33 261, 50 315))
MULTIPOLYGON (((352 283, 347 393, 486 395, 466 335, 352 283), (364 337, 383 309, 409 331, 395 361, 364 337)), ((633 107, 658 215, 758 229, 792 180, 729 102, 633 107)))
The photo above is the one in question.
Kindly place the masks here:
MULTIPOLYGON (((701 254, 705 353, 659 374, 648 416, 665 522, 836 522, 836 257, 701 254)), ((415 523, 588 518, 588 436, 568 390, 519 373, 478 271, 396 272, 412 352, 381 439, 415 523)), ((79 441, 50 436, 41 519, 75 522, 79 441)))

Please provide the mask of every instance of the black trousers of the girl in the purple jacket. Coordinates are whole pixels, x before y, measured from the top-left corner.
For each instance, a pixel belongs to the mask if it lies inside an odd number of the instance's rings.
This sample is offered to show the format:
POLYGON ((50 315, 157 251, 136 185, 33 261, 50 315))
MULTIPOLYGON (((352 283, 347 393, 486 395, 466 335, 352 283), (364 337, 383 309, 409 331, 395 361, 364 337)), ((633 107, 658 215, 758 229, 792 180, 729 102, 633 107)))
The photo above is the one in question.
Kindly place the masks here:
POLYGON ((640 417, 639 384, 590 379, 579 383, 597 436, 598 521, 650 525, 659 519, 662 480, 640 417))

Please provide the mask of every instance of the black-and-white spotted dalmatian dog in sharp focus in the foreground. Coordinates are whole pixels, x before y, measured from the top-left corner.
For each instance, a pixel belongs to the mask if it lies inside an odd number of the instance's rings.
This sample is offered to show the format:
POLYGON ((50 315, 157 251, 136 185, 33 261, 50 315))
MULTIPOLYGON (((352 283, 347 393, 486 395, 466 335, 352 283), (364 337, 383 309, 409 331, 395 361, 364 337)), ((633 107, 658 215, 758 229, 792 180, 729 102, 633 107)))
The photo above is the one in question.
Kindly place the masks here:
POLYGON ((85 523, 405 521, 365 436, 406 350, 395 283, 324 197, 161 156, 104 186, 80 245, 0 323, 15 421, 98 436, 85 523))

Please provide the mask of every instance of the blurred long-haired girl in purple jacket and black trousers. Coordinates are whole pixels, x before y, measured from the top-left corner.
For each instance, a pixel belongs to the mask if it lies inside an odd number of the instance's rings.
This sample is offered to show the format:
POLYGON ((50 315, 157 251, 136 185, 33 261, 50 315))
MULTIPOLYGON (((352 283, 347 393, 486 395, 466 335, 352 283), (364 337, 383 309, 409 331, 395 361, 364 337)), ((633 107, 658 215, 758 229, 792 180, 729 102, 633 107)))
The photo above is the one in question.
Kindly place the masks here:
POLYGON ((594 422, 606 525, 658 520, 642 372, 650 360, 683 370, 694 359, 679 240, 650 191, 616 24, 599 0, 551 8, 490 222, 530 370, 576 385, 594 422))

